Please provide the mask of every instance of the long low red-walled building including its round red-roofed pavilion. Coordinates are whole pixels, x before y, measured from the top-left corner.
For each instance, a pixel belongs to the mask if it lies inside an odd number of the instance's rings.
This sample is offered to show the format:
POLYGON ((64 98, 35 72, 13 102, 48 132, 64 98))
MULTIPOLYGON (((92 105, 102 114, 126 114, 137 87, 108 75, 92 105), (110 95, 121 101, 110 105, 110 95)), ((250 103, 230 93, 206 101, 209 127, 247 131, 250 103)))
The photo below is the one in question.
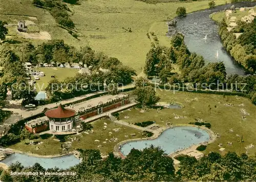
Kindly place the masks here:
POLYGON ((81 102, 75 106, 70 105, 64 107, 59 105, 57 108, 46 111, 45 115, 48 118, 47 126, 42 124, 41 120, 33 120, 26 124, 26 128, 33 133, 38 133, 48 128, 52 132, 67 132, 71 131, 75 123, 80 120, 86 120, 92 116, 99 115, 111 109, 115 109, 122 105, 130 103, 129 95, 106 95, 88 101, 81 102))

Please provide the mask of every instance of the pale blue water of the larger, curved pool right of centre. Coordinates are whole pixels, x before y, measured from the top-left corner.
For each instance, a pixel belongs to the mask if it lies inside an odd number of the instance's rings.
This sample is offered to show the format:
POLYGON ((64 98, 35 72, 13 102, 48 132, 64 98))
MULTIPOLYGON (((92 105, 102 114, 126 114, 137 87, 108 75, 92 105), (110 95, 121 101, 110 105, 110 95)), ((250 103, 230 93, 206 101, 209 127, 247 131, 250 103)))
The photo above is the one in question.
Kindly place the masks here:
POLYGON ((127 142, 121 146, 120 150, 123 155, 127 155, 133 148, 142 150, 150 145, 154 145, 161 147, 165 153, 170 154, 177 150, 208 141, 209 138, 209 134, 203 129, 193 126, 179 126, 166 129, 154 140, 127 142))

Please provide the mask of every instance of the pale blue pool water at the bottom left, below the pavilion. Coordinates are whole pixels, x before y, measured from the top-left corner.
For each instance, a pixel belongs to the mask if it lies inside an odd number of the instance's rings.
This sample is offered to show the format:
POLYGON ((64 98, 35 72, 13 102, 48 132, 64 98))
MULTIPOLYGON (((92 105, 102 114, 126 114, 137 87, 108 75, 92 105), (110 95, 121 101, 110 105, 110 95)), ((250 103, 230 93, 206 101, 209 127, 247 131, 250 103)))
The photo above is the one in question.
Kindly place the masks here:
POLYGON ((21 153, 13 153, 12 155, 8 156, 1 162, 5 163, 8 166, 12 163, 19 162, 24 167, 33 166, 35 163, 39 163, 45 169, 54 168, 54 167, 57 167, 60 169, 68 169, 80 163, 78 158, 76 158, 74 155, 43 158, 43 157, 29 156, 21 153))

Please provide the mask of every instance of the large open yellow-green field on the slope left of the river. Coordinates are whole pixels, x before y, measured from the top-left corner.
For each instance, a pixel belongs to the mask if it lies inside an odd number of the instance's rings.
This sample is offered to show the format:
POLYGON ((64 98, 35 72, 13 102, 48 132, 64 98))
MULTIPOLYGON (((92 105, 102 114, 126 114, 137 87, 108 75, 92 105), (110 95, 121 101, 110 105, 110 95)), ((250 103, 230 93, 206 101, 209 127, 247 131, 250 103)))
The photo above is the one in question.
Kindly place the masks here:
MULTIPOLYGON (((224 0, 216 1, 217 5, 225 4, 224 0)), ((79 39, 72 37, 61 29, 48 11, 32 6, 30 0, 0 0, 0 19, 15 23, 24 16, 37 17, 34 21, 40 31, 47 31, 52 38, 64 39, 65 42, 80 47, 90 45, 96 51, 117 57, 125 65, 133 67, 139 74, 144 66, 145 56, 151 47, 147 32, 155 32, 161 45, 169 45, 166 19, 176 16, 177 7, 186 7, 187 12, 208 8, 208 1, 190 3, 146 4, 133 0, 82 1, 80 5, 69 5, 75 22, 79 39), (1 15, 2 14, 2 15, 1 15), (132 32, 124 29, 131 28, 132 32), (96 30, 98 29, 98 30, 96 30)), ((10 33, 13 33, 12 31, 10 33)), ((35 44, 42 40, 31 39, 35 44)))

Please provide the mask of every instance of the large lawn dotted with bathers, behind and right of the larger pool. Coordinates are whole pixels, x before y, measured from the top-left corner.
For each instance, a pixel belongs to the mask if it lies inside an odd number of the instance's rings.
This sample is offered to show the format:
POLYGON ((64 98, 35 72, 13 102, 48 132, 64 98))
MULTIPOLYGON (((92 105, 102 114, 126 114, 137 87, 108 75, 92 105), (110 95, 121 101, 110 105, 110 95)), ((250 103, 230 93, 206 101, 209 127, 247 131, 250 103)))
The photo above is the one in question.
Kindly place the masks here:
MULTIPOLYGON (((162 101, 179 102, 184 105, 182 109, 162 109, 157 112, 156 109, 150 109, 147 112, 140 112, 140 109, 131 109, 119 112, 120 120, 135 123, 143 121, 156 121, 156 124, 165 126, 166 122, 176 124, 188 124, 195 122, 195 119, 201 118, 211 124, 211 129, 220 134, 220 138, 214 143, 207 146, 205 152, 219 151, 219 143, 223 144, 226 148, 222 153, 227 151, 236 151, 239 153, 241 135, 243 135, 244 143, 241 145, 241 153, 246 152, 245 147, 250 144, 255 144, 256 135, 256 106, 253 105, 248 99, 236 96, 226 96, 225 99, 221 95, 213 94, 199 94, 199 93, 186 93, 186 92, 173 92, 157 90, 162 101), (196 99, 195 99, 196 98, 196 99), (193 101, 193 99, 195 99, 193 101), (198 99, 198 100, 197 100, 198 99), (232 103, 233 106, 225 106, 225 103, 232 103), (243 103, 244 106, 238 104, 243 103), (209 111, 210 105, 211 110, 209 111), (216 106, 216 107, 215 107, 216 106), (250 116, 243 115, 240 109, 245 109, 250 116), (175 119, 174 115, 185 116, 184 119, 175 119), (125 119, 124 116, 128 116, 125 119), (242 119, 246 116, 246 120, 242 119), (233 132, 230 131, 233 130, 233 132), (237 136, 240 135, 240 137, 237 136), (232 142, 232 145, 228 145, 232 142)), ((256 147, 248 150, 249 155, 254 155, 256 147)))

